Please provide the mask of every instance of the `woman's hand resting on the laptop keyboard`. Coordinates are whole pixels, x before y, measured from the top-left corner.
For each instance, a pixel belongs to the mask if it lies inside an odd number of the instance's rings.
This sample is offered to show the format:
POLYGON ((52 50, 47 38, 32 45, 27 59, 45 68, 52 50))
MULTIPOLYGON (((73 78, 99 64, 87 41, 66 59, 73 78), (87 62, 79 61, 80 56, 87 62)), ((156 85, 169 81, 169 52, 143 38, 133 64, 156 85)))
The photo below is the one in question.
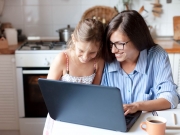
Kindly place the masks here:
POLYGON ((139 110, 138 107, 139 107, 138 102, 134 102, 132 104, 124 104, 123 105, 124 115, 137 112, 139 110))

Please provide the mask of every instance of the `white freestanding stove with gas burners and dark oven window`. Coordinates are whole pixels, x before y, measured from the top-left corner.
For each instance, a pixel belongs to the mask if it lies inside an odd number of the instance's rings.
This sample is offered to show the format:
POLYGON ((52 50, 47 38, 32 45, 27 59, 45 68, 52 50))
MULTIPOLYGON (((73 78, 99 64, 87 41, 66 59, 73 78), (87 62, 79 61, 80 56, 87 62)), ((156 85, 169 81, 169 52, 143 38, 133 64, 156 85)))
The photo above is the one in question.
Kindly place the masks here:
POLYGON ((48 111, 38 78, 47 78, 51 62, 66 47, 58 41, 26 41, 15 51, 20 135, 43 133, 48 111))

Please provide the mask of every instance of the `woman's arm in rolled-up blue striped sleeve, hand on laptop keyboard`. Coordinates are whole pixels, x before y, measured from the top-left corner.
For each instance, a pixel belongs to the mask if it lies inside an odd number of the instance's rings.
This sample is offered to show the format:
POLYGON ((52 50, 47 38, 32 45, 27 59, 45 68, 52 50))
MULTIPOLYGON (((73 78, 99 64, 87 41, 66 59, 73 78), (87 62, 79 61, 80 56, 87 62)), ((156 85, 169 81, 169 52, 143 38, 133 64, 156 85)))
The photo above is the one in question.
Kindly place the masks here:
POLYGON ((153 66, 152 93, 154 93, 154 97, 152 99, 154 100, 125 104, 125 114, 133 113, 137 110, 154 111, 176 108, 180 102, 180 97, 176 91, 177 86, 173 82, 168 54, 161 48, 154 51, 153 66))

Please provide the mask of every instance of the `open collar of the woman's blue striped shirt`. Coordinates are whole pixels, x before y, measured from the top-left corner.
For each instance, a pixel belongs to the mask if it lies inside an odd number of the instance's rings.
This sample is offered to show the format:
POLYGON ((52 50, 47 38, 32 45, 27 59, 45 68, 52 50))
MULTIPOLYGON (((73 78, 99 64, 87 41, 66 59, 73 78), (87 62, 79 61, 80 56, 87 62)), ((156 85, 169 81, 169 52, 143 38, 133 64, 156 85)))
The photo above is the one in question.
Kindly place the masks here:
MULTIPOLYGON (((115 59, 111 63, 108 64, 108 72, 115 72, 115 71, 120 71, 121 74, 123 74, 122 68, 119 64, 119 62, 115 59)), ((134 71, 140 72, 142 74, 146 73, 146 66, 147 66, 147 49, 142 50, 140 52, 136 67, 134 71)))

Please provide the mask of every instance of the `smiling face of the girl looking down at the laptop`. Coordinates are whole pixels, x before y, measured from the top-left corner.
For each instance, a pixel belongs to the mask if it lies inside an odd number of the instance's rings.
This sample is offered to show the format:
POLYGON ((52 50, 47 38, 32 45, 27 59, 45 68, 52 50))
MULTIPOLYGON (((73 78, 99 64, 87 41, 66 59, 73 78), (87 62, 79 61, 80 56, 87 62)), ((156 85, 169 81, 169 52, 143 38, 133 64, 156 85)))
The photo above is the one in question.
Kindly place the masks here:
POLYGON ((99 43, 75 42, 75 54, 82 63, 87 63, 97 56, 99 43))

